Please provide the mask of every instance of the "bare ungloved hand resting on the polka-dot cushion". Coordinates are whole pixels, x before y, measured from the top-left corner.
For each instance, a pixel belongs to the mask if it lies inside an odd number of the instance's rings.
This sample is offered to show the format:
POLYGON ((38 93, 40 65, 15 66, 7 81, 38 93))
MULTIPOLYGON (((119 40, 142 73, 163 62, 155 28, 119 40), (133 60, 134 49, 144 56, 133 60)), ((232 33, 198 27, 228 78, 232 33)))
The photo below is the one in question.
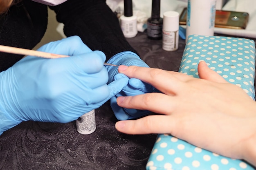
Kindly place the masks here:
POLYGON ((136 66, 119 66, 119 73, 152 84, 162 93, 118 97, 120 107, 147 109, 160 115, 119 121, 117 130, 128 134, 168 133, 256 165, 256 103, 205 62, 198 65, 200 79, 136 66))

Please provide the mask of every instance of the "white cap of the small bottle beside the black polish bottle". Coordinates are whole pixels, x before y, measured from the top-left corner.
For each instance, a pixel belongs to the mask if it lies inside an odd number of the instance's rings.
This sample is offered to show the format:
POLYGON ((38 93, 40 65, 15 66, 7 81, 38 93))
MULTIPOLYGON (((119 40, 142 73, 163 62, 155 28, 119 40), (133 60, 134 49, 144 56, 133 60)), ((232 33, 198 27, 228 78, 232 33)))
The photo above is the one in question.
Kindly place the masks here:
POLYGON ((176 11, 164 12, 163 17, 163 30, 164 31, 177 31, 179 30, 180 14, 176 11))

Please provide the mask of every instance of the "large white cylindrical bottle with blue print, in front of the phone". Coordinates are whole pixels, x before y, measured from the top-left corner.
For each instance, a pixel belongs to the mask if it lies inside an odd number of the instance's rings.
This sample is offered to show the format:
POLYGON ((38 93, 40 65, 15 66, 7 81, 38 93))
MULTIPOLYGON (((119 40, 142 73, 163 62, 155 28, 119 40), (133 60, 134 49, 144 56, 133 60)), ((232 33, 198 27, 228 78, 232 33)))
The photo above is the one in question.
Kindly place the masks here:
POLYGON ((216 0, 188 0, 186 40, 189 35, 214 34, 216 0))

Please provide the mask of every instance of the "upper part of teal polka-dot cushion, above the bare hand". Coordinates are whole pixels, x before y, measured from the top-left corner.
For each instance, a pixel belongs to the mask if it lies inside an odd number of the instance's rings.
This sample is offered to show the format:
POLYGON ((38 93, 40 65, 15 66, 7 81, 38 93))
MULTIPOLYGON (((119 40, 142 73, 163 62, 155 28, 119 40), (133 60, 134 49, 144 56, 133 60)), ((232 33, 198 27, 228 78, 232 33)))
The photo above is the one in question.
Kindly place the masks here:
POLYGON ((255 44, 253 40, 190 35, 179 72, 198 77, 197 66, 202 60, 228 82, 243 88, 255 100, 255 44))

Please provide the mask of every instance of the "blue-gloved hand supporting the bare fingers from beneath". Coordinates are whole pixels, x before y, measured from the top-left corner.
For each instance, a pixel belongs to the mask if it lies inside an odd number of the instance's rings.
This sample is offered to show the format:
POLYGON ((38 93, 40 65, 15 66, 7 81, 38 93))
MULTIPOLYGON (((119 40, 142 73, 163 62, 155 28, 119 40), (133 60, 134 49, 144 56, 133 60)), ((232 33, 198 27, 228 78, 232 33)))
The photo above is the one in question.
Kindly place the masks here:
MULTIPOLYGON (((149 67, 144 61, 142 61, 139 56, 131 51, 125 51, 114 55, 108 63, 115 65, 126 65, 126 66, 141 66, 149 67)), ((108 70, 109 80, 108 83, 116 81, 117 79, 129 79, 126 75, 118 73, 117 67, 106 66, 108 70)), ((145 93, 153 92, 153 86, 142 82, 139 79, 131 78, 128 81, 127 86, 125 86, 120 93, 113 96, 110 100, 112 110, 119 120, 135 119, 150 113, 148 110, 136 110, 136 109, 127 109, 121 108, 117 105, 117 97, 119 96, 134 96, 145 93)))

